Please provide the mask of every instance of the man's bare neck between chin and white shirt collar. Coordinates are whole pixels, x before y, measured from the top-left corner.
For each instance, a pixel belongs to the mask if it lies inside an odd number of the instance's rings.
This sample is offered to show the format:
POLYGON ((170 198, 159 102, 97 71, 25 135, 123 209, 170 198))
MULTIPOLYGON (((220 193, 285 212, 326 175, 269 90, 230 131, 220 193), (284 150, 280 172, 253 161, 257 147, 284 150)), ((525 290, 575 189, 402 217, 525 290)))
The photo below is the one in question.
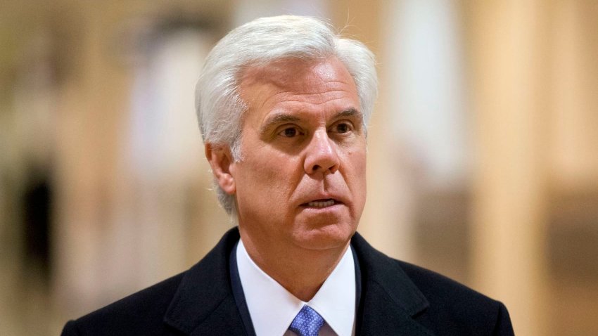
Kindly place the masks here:
POLYGON ((277 249, 272 245, 266 245, 266 250, 242 230, 241 240, 253 262, 303 302, 309 302, 316 295, 349 247, 347 242, 326 250, 295 246, 277 249))

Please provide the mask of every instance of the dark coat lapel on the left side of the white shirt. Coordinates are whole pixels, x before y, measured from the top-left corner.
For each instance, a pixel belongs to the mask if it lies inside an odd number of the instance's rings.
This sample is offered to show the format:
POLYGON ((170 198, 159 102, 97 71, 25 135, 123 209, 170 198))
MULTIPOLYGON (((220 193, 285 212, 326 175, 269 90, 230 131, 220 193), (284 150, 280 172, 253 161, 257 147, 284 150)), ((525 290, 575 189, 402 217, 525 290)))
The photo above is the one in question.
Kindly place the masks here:
POLYGON ((246 335, 229 276, 229 254, 237 241, 238 230, 233 228, 186 272, 165 323, 186 335, 246 335))

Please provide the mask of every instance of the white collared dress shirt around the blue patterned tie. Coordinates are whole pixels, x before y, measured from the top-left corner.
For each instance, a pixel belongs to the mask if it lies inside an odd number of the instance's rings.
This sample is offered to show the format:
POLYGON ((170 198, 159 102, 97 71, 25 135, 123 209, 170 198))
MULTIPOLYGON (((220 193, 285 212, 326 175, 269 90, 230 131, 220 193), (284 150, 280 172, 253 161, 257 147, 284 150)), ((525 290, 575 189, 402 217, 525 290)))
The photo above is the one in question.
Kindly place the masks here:
POLYGON ((249 257, 241 240, 236 260, 255 335, 295 335, 288 326, 304 304, 324 318, 319 336, 355 335, 355 264, 350 248, 310 302, 294 297, 262 271, 249 257))

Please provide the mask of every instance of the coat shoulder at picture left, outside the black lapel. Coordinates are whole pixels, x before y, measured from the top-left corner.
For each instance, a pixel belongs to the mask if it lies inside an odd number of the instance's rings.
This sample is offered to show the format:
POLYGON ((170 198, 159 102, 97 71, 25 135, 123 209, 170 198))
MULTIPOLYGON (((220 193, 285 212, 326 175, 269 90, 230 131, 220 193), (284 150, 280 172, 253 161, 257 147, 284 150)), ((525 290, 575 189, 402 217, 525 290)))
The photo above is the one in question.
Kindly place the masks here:
POLYGON ((180 273, 70 321, 63 335, 162 335, 163 318, 183 276, 180 273))

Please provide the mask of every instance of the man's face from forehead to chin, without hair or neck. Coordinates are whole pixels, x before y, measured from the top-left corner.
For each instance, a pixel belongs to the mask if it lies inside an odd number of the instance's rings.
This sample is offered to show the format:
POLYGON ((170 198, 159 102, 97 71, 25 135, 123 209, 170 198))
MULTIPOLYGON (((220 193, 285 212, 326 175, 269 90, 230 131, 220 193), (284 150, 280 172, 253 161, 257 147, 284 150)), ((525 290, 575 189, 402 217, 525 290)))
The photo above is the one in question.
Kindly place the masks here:
POLYGON ((231 164, 241 235, 254 245, 345 247, 366 198, 355 83, 334 57, 246 71, 241 162, 231 164))

